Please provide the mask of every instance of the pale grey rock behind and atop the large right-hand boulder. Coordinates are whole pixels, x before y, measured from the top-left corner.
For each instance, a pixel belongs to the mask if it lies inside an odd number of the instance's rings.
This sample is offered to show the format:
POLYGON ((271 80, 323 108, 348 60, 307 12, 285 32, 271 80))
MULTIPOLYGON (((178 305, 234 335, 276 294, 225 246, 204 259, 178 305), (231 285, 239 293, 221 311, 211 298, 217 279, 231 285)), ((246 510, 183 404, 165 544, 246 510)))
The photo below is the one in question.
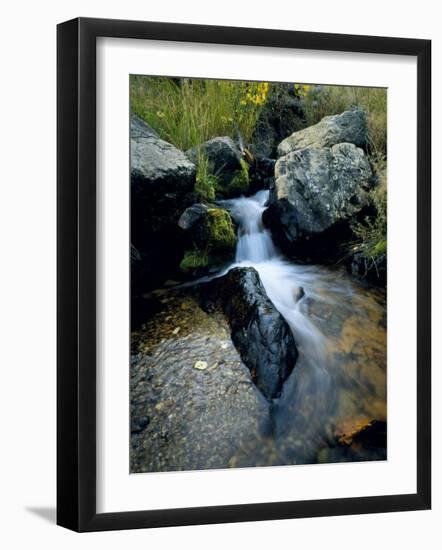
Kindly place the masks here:
POLYGON ((365 147, 366 141, 367 115, 365 111, 355 109, 324 117, 318 124, 294 132, 279 144, 278 156, 305 147, 331 147, 343 142, 365 147))

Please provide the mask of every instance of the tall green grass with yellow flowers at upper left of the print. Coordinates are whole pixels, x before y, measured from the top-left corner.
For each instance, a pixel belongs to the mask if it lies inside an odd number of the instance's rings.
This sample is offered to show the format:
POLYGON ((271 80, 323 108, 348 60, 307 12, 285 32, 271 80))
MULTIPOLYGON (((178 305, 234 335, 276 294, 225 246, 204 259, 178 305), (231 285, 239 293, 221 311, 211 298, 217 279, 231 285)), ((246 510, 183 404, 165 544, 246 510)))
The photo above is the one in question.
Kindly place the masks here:
POLYGON ((131 110, 160 137, 187 150, 216 136, 251 139, 267 83, 133 75, 131 110))

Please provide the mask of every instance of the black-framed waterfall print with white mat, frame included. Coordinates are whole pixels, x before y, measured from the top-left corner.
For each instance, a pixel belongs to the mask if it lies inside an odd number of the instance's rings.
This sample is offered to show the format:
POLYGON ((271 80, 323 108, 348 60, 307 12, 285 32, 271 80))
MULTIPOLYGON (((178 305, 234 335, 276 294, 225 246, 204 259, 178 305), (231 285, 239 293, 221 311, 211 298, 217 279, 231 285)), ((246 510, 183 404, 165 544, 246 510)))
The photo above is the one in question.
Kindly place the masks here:
POLYGON ((58 26, 59 525, 430 508, 430 52, 58 26))

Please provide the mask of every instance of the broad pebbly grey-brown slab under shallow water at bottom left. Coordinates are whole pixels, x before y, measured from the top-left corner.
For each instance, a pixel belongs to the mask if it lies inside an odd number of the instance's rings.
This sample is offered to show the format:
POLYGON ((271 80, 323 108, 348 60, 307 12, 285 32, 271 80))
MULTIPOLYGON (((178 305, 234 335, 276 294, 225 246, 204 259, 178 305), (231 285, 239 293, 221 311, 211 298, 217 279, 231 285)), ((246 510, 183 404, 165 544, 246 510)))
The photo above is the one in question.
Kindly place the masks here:
MULTIPOLYGON (((131 472, 228 468, 268 437, 268 402, 223 315, 208 315, 184 291, 161 300, 163 310, 132 335, 131 472)), ((245 465, 255 464, 252 453, 245 465)))

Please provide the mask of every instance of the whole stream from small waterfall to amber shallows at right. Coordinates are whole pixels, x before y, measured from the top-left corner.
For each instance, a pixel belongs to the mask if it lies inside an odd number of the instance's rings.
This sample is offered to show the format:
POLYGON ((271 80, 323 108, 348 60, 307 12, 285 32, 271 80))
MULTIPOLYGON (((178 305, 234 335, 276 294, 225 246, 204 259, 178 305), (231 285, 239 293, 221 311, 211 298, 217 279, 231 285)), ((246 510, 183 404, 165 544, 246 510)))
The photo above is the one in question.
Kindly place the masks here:
MULTIPOLYGON (((268 191, 222 201, 238 225, 235 263, 254 267, 290 325, 296 366, 272 405, 269 445, 288 463, 345 460, 333 445, 373 419, 386 420, 385 296, 344 270, 299 265, 275 247, 262 213, 268 191), (330 442, 330 444, 327 444, 330 442)), ((383 458, 364 451, 362 459, 383 458)), ((359 456, 361 458, 361 456, 359 456)))

